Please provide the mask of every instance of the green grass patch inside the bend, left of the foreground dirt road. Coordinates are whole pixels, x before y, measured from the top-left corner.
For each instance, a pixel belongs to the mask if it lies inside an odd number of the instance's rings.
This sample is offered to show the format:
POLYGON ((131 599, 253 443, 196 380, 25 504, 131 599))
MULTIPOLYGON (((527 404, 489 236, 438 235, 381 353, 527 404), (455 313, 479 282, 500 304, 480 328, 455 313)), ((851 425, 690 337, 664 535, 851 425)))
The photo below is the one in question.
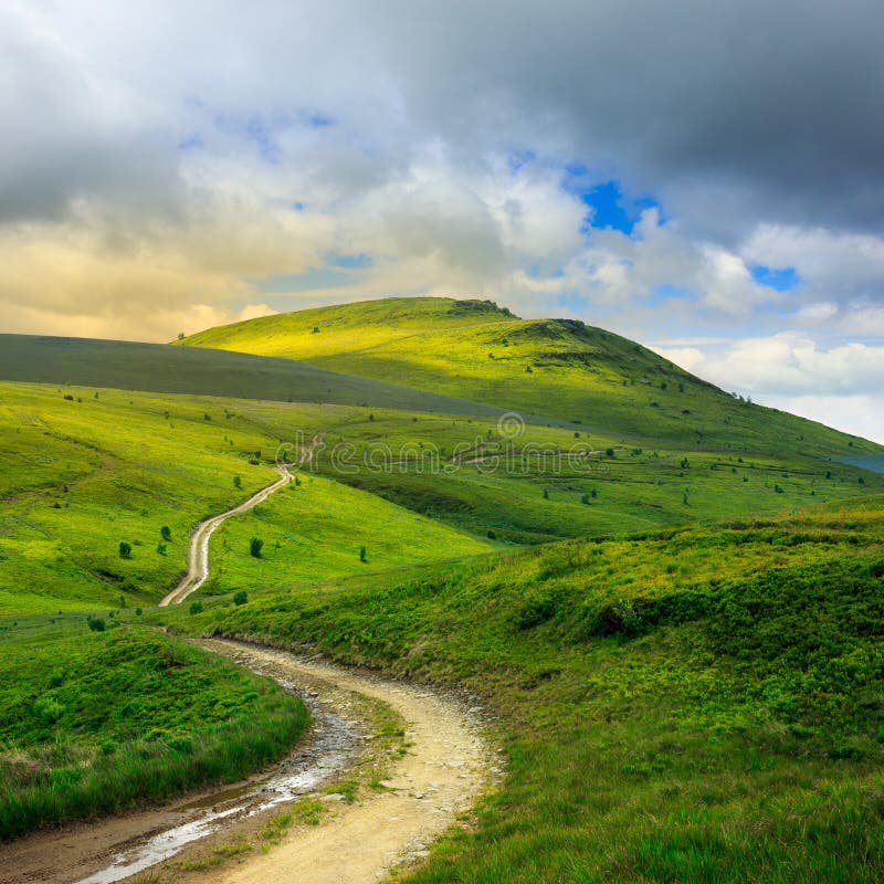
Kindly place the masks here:
POLYGON ((271 680, 104 622, 0 620, 0 839, 240 779, 307 724, 271 680))

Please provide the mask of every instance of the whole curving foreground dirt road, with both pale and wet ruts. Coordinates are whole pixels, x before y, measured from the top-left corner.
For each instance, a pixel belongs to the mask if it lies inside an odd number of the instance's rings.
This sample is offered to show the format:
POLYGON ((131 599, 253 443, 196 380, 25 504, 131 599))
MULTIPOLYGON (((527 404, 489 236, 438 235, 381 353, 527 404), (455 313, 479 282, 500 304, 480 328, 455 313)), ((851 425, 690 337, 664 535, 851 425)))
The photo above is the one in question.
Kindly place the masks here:
POLYGON ((220 640, 202 644, 305 695, 316 723, 306 744, 244 783, 0 844, 0 884, 108 884, 139 873, 157 884, 375 882, 424 855, 496 770, 475 708, 283 651, 220 640), (389 704, 406 720, 408 754, 391 761, 381 791, 362 789, 352 804, 328 800, 330 812, 319 825, 292 830, 267 853, 251 850, 220 867, 183 871, 182 862, 206 865, 201 861, 231 841, 261 844, 266 819, 284 812, 285 800, 322 799, 325 783, 349 777, 346 771, 371 753, 365 697, 389 704))

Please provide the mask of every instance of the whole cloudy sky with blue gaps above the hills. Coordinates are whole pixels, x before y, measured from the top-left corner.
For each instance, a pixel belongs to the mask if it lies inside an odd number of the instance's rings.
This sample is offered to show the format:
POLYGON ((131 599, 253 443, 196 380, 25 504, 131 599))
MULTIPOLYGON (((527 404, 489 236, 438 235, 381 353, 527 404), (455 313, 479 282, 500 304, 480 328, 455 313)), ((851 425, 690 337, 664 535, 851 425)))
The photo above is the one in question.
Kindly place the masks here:
POLYGON ((3 0, 0 330, 585 319, 884 442, 880 0, 3 0))

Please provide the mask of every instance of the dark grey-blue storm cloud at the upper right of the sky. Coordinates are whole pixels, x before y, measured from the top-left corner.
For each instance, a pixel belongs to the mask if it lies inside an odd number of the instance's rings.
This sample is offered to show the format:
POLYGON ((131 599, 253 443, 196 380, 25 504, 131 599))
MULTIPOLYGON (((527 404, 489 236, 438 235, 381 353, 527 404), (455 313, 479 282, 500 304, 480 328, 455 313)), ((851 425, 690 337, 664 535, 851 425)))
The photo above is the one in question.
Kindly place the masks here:
POLYGON ((467 149, 546 138, 676 210, 884 225, 878 2, 386 9, 375 32, 414 120, 467 149))

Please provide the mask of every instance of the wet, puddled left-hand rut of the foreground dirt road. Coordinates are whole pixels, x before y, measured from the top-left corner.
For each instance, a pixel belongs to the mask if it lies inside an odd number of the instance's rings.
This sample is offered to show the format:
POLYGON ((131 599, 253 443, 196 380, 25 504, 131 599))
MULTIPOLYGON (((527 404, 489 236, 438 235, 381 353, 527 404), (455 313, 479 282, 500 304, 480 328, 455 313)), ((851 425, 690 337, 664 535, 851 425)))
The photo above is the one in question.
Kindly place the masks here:
MULTIPOLYGON (((287 691, 297 690, 290 682, 277 681, 287 691)), ((254 817, 313 792, 319 783, 340 771, 358 748, 360 736, 356 725, 324 709, 309 695, 303 699, 314 720, 315 737, 309 746, 281 762, 267 779, 215 792, 186 806, 182 810, 190 817, 186 822, 117 854, 112 865, 77 884, 113 884, 144 872, 229 822, 254 817)))

